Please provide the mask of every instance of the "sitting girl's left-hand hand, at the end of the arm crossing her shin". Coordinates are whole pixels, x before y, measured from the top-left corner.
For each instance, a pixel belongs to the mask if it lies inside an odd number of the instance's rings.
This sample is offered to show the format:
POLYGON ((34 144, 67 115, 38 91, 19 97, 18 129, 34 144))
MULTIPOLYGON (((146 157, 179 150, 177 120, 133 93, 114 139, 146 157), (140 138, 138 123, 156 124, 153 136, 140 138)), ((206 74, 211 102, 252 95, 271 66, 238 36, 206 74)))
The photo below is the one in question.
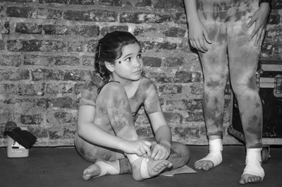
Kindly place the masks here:
POLYGON ((127 140, 123 146, 123 152, 136 154, 139 157, 151 156, 151 143, 146 140, 127 140))

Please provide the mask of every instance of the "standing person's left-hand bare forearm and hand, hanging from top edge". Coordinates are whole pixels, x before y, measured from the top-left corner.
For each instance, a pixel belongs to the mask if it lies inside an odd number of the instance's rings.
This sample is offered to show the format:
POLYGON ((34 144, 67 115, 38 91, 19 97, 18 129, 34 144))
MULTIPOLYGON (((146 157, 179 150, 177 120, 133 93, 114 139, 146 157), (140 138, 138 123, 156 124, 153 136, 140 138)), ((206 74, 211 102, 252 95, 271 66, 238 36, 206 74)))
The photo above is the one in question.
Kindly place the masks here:
POLYGON ((207 44, 211 44, 207 29, 202 24, 198 13, 196 0, 184 0, 185 12, 189 28, 189 40, 192 47, 200 52, 207 52, 207 44))

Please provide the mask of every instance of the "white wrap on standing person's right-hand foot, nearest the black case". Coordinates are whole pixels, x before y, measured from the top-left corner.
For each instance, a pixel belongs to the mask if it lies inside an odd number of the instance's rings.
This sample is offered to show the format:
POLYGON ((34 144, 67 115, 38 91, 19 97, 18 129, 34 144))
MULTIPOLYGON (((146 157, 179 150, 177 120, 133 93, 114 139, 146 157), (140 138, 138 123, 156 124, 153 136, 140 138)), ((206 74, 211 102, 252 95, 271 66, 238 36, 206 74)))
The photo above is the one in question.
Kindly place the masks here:
POLYGON ((243 174, 259 176, 264 179, 264 169, 262 169, 262 148, 247 149, 246 167, 243 174))

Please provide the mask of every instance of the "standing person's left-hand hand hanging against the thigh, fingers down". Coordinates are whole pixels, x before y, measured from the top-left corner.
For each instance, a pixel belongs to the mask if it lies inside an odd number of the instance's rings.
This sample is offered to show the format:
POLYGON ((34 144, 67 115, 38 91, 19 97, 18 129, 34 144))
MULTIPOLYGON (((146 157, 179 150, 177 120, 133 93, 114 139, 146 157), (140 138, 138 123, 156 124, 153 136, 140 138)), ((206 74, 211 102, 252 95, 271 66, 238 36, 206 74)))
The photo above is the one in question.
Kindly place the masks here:
POLYGON ((211 44, 207 29, 201 23, 200 20, 192 20, 189 25, 189 40, 192 47, 200 52, 207 52, 207 44, 211 44))

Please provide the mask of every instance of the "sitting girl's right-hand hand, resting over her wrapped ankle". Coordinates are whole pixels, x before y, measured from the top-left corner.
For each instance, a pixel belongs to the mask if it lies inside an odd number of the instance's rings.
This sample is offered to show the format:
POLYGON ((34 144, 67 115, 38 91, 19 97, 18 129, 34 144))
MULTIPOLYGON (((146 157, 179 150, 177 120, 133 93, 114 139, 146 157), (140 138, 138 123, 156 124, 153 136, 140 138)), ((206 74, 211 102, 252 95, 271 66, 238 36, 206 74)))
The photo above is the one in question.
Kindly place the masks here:
POLYGON ((152 159, 167 159, 171 154, 171 147, 165 144, 156 144, 152 147, 152 159))

